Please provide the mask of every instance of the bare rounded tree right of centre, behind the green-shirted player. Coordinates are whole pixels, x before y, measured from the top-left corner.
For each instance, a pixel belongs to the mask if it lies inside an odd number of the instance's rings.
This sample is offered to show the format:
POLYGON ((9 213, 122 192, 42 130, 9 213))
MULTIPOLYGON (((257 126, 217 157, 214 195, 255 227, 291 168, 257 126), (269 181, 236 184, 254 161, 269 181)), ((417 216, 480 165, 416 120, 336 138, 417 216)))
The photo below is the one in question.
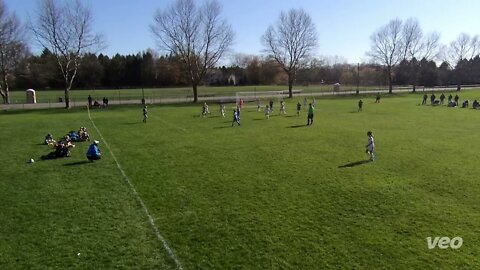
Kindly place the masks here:
POLYGON ((265 51, 288 75, 288 96, 291 98, 296 72, 317 46, 317 31, 312 18, 303 9, 281 12, 276 26, 268 27, 262 42, 265 51))

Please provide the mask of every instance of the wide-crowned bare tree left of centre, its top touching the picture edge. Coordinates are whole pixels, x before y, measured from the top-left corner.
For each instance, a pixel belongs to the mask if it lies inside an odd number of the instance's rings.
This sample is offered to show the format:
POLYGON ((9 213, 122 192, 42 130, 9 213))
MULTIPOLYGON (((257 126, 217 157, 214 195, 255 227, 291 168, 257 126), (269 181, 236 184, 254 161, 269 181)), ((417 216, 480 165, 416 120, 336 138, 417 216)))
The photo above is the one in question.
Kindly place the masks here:
POLYGON ((180 57, 198 101, 198 85, 233 43, 234 32, 221 15, 221 6, 207 1, 197 7, 193 0, 177 0, 158 9, 150 30, 160 48, 180 57))

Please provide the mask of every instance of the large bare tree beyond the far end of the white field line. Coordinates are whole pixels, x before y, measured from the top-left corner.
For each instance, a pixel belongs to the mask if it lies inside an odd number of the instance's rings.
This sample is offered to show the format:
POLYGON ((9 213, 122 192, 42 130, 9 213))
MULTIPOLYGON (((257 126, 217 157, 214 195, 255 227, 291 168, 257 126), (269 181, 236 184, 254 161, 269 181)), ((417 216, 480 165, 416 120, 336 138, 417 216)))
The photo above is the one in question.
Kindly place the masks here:
POLYGON ((70 89, 77 75, 82 56, 104 45, 102 37, 93 32, 90 8, 80 0, 43 0, 37 20, 31 24, 40 46, 55 56, 65 83, 65 107, 70 108, 70 89))

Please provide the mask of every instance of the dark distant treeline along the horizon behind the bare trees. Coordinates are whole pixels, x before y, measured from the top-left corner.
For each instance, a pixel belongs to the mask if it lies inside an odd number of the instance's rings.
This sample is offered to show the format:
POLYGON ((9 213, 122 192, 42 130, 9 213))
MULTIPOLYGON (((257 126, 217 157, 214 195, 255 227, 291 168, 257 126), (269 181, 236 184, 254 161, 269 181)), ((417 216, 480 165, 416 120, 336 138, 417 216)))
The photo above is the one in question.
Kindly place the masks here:
MULTIPOLYGON (((80 62, 73 87, 76 89, 139 88, 188 86, 182 60, 173 55, 158 56, 153 50, 136 55, 85 54, 80 62)), ((24 58, 12 72, 11 87, 27 89, 62 89, 64 80, 53 54, 44 50, 39 56, 24 58)), ((480 57, 462 60, 455 69, 447 62, 437 66, 426 58, 403 60, 392 68, 395 85, 454 85, 480 83, 480 57), (415 74, 412 74, 415 72, 415 74)), ((388 85, 385 68, 378 64, 351 65, 311 59, 296 70, 295 84, 388 85)), ((237 55, 231 66, 208 69, 201 85, 278 85, 288 75, 270 57, 237 55)))

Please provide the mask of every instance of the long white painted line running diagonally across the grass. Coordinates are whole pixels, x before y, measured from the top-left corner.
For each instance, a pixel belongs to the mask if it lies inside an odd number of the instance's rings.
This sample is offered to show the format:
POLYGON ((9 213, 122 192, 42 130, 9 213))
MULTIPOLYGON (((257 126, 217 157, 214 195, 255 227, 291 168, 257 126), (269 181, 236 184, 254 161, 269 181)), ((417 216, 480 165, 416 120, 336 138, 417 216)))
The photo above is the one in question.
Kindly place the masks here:
POLYGON ((142 197, 140 197, 140 194, 138 194, 137 189, 136 189, 135 186, 132 184, 132 181, 131 181, 130 178, 127 176, 127 174, 125 173, 125 171, 122 169, 122 166, 120 166, 120 163, 118 163, 118 160, 117 160, 117 158, 115 157, 115 155, 113 154, 112 149, 111 149, 110 146, 108 145, 107 141, 106 141, 105 138, 103 137, 103 135, 102 135, 102 133, 100 132, 100 130, 99 130, 99 129, 97 128, 97 126, 95 125, 95 122, 93 122, 93 119, 92 119, 92 117, 91 117, 91 115, 90 115, 90 109, 88 109, 88 107, 87 107, 87 111, 88 111, 88 118, 89 118, 90 121, 92 122, 93 127, 94 127, 95 130, 98 132, 98 135, 100 135, 100 138, 102 139, 102 142, 105 144, 105 146, 107 147, 108 151, 109 151, 110 154, 112 155, 113 160, 114 160, 115 163, 117 164, 118 170, 122 173, 123 179, 125 179, 125 181, 127 182, 127 184, 130 186, 130 190, 132 191, 133 195, 135 196, 135 199, 140 203, 140 205, 142 206, 143 211, 144 211, 145 214, 147 215, 148 221, 150 222, 150 225, 152 226, 152 229, 153 229, 153 231, 155 232, 155 235, 157 236, 157 239, 162 243, 163 247, 164 247, 165 250, 167 251, 167 253, 168 253, 168 255, 170 256, 170 258, 175 262, 175 265, 177 266, 177 269, 182 270, 183 268, 182 268, 182 265, 180 264, 180 261, 177 259, 177 257, 176 257, 175 254, 173 253, 173 250, 170 248, 170 246, 168 245, 167 241, 165 240, 165 238, 163 238, 162 234, 160 233, 160 230, 158 229, 157 225, 155 224, 155 221, 153 220, 152 215, 150 215, 150 211, 148 211, 148 208, 147 208, 147 206, 145 205, 145 203, 143 202, 142 197))

